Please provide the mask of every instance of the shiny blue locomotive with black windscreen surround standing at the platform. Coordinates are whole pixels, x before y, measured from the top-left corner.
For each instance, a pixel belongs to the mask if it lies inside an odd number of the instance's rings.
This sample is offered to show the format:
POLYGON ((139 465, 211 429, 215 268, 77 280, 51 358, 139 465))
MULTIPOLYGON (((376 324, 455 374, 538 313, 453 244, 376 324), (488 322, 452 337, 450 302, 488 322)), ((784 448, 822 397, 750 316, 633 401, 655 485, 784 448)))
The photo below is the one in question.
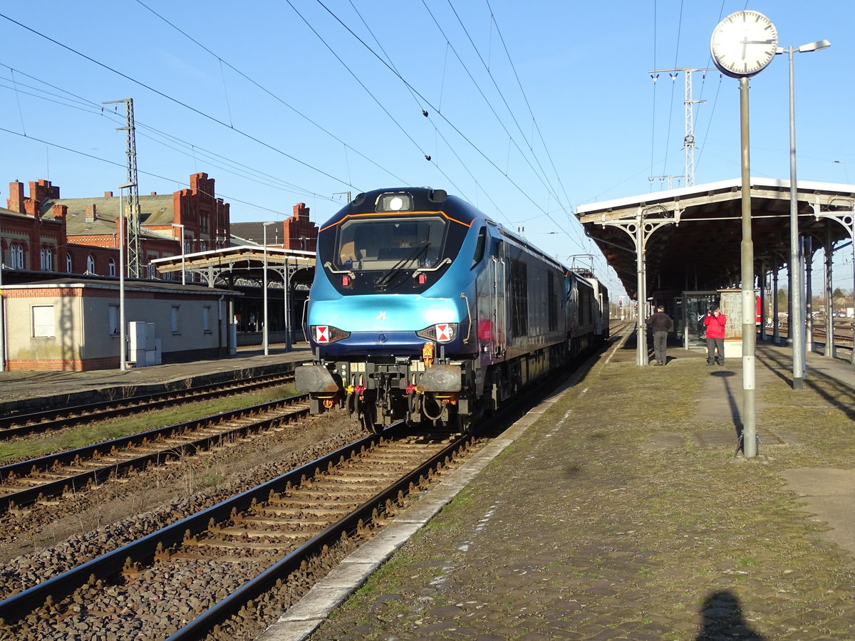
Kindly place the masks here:
POLYGON ((445 191, 369 191, 318 233, 296 370, 313 414, 343 407, 467 430, 609 333, 608 292, 445 191))

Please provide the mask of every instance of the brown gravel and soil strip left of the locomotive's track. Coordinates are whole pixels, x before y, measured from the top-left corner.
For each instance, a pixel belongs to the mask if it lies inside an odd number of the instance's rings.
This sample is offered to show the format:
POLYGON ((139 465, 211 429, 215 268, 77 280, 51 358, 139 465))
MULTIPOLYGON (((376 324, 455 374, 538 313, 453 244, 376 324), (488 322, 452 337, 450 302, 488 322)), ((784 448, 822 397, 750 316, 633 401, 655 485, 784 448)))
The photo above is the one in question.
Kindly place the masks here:
POLYGON ((3 515, 0 598, 313 461, 361 433, 343 413, 308 417, 56 505, 3 515))

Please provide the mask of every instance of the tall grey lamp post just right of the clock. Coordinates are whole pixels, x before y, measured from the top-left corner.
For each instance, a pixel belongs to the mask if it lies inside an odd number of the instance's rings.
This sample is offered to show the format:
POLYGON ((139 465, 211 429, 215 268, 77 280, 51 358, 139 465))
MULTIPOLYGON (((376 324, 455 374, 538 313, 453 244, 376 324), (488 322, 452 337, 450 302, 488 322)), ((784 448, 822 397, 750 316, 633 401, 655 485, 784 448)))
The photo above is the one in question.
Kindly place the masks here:
POLYGON ((790 298, 793 318, 789 322, 789 332, 793 343, 793 389, 800 390, 805 385, 805 319, 802 305, 801 251, 799 247, 799 201, 796 188, 796 116, 795 92, 793 91, 793 53, 806 53, 827 49, 828 40, 819 40, 800 47, 778 47, 776 54, 786 53, 790 62, 790 298))

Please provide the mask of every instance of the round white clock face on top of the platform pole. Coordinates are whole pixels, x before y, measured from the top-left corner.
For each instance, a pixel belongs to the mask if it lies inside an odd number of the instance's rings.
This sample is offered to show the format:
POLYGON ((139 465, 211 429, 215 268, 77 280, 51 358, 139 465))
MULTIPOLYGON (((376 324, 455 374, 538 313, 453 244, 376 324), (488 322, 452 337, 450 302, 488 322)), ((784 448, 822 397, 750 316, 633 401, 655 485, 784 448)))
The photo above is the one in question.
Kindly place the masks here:
POLYGON ((772 62, 778 50, 778 31, 757 11, 728 15, 712 32, 710 51, 716 67, 728 76, 757 74, 772 62))

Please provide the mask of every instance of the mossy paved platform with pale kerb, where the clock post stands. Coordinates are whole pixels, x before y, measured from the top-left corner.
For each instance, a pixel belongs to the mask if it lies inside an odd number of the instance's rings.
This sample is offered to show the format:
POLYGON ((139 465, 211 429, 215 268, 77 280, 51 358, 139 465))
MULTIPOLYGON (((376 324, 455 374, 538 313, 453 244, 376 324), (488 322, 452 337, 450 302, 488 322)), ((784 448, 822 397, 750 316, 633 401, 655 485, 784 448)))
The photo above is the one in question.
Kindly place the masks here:
POLYGON ((742 360, 632 330, 333 570, 260 637, 855 638, 855 369, 742 360))

